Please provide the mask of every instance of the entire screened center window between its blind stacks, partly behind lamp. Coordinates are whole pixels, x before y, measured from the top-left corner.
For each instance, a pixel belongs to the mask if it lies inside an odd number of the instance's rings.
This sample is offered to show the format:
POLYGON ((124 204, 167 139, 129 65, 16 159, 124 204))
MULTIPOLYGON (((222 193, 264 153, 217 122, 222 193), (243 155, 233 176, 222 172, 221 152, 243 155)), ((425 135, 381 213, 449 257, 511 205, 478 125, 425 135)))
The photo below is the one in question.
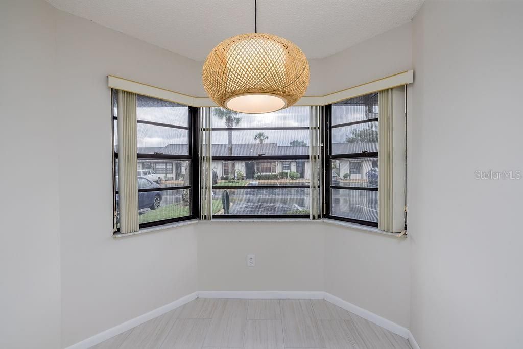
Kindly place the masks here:
POLYGON ((213 218, 309 218, 309 124, 309 107, 212 108, 213 218))

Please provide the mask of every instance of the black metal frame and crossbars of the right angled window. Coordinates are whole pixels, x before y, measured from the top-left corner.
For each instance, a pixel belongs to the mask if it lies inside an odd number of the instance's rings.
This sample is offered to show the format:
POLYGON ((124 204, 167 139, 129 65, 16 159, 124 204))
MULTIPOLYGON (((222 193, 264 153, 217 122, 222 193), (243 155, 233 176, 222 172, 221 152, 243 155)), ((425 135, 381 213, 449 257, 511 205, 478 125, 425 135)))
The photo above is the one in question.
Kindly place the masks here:
MULTIPOLYGON (((368 95, 376 95, 378 92, 372 92, 372 94, 368 95)), ((340 217, 332 215, 332 189, 341 189, 341 190, 365 190, 365 191, 378 191, 378 187, 350 187, 345 185, 332 185, 332 161, 337 159, 365 159, 365 158, 372 158, 376 157, 379 158, 379 152, 362 152, 362 153, 348 153, 348 154, 332 154, 332 130, 336 129, 338 127, 345 127, 345 126, 351 126, 351 125, 358 125, 358 124, 365 124, 365 123, 371 123, 371 122, 377 122, 378 118, 371 118, 366 120, 358 120, 353 122, 347 122, 347 123, 341 123, 336 124, 333 126, 332 124, 332 107, 333 104, 327 104, 324 108, 324 115, 322 123, 325 125, 324 134, 322 135, 322 143, 325 145, 325 152, 324 152, 324 161, 323 161, 323 183, 324 183, 324 190, 323 190, 323 202, 324 202, 324 218, 333 219, 333 220, 340 220, 342 222, 348 222, 348 223, 355 223, 355 224, 361 224, 371 227, 378 227, 378 222, 370 222, 368 220, 361 220, 361 219, 354 219, 354 218, 347 218, 347 217, 340 217)))

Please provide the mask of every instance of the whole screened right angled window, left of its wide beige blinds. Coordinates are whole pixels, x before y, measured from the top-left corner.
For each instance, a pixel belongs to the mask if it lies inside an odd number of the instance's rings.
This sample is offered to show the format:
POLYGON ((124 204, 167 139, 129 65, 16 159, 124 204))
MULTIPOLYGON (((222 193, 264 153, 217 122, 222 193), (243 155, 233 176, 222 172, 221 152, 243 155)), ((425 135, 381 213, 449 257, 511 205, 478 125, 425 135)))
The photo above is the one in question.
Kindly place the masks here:
POLYGON ((378 93, 327 109, 327 217, 378 226, 378 93))

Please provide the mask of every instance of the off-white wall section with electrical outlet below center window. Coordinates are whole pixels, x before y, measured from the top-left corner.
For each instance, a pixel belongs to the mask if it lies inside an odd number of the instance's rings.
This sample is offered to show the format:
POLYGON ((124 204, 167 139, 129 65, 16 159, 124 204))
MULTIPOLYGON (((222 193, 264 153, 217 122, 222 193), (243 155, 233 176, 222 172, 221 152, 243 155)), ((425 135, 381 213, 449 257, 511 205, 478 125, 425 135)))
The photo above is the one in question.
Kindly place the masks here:
POLYGON ((323 290, 321 223, 213 221, 197 229, 200 290, 323 290), (248 253, 255 267, 246 266, 248 253))

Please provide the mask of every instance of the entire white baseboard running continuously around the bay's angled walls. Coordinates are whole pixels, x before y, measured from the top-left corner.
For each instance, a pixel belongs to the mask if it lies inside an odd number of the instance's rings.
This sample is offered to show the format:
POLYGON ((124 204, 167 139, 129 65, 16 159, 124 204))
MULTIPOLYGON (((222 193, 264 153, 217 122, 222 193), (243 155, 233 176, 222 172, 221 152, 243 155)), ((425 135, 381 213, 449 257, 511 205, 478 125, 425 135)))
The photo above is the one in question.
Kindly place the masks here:
POLYGON ((368 310, 358 307, 346 300, 333 296, 323 291, 200 291, 191 293, 185 297, 176 299, 175 301, 166 304, 160 308, 156 308, 150 312, 147 312, 139 317, 121 323, 113 328, 110 328, 104 332, 95 334, 94 336, 73 344, 66 349, 87 349, 96 344, 104 342, 113 336, 116 336, 122 332, 132 329, 139 324, 154 319, 166 312, 183 306, 189 303, 191 300, 196 298, 235 298, 235 299, 325 299, 340 308, 355 313, 356 315, 366 319, 372 323, 375 323, 386 330, 389 330, 403 338, 408 339, 413 349, 420 349, 411 331, 404 328, 403 326, 394 323, 390 320, 382 318, 381 316, 374 314, 368 310))

